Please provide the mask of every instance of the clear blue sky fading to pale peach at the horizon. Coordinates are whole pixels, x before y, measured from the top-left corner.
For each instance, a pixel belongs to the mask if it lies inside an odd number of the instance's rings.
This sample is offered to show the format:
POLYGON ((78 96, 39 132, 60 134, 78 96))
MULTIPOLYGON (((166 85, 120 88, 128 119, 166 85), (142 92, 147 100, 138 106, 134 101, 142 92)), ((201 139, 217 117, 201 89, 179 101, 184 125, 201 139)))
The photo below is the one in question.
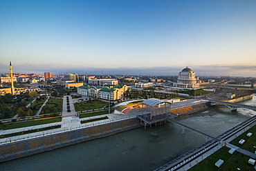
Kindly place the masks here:
POLYGON ((256 77, 255 0, 1 0, 0 73, 256 77))

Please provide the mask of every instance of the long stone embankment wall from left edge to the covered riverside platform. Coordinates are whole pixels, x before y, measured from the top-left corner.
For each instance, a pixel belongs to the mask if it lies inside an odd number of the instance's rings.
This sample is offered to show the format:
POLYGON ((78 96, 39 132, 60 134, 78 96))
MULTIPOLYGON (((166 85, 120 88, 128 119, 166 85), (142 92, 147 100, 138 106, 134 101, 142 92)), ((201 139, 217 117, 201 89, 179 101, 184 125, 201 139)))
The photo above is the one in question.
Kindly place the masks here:
POLYGON ((91 139, 107 137, 141 126, 139 119, 132 118, 0 145, 0 162, 62 148, 91 139))

